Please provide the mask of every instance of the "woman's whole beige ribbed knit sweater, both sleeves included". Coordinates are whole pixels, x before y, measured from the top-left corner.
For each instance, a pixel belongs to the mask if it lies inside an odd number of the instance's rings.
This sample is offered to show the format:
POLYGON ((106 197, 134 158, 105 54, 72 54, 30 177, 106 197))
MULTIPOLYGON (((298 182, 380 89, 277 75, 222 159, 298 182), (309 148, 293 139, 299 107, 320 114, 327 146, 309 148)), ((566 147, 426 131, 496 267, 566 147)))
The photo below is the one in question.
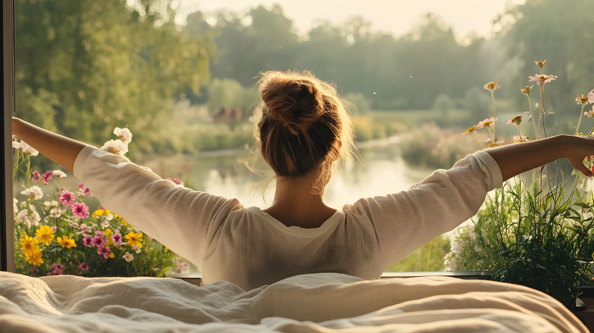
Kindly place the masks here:
POLYGON ((497 162, 477 152, 407 191, 358 200, 321 227, 303 229, 91 146, 78 154, 74 175, 106 209, 197 265, 205 283, 226 280, 244 290, 315 272, 376 279, 475 215, 503 183, 497 162))

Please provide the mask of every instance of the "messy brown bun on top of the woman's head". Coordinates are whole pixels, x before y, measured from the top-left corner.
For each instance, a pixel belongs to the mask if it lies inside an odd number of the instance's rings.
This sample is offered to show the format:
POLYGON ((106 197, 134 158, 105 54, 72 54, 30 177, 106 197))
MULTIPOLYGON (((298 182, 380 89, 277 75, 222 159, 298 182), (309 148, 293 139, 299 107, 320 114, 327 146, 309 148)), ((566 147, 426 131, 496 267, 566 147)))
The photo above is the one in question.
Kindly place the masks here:
POLYGON ((265 115, 298 135, 324 113, 323 94, 313 81, 273 77, 260 86, 265 115))

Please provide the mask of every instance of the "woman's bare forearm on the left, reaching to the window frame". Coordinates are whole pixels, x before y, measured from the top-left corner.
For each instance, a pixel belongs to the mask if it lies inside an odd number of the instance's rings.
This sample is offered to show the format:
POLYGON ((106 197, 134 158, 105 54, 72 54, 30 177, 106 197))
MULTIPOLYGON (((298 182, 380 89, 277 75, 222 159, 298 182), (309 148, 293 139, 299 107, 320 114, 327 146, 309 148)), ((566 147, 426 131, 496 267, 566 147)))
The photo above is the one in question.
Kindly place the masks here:
POLYGON ((69 171, 74 169, 74 161, 78 153, 87 146, 14 117, 12 117, 12 134, 69 171))

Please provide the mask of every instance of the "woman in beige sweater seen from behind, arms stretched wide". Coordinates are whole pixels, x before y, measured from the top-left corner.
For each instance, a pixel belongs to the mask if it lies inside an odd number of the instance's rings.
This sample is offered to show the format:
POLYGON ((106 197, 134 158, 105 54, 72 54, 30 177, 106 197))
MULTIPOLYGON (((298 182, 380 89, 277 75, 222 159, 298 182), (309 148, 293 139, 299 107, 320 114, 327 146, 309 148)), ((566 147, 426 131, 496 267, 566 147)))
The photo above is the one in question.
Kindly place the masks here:
POLYGON ((255 138, 276 174, 274 201, 264 210, 176 186, 125 157, 17 118, 12 130, 73 171, 106 209, 195 263, 204 282, 244 290, 315 272, 375 279, 475 215, 486 193, 514 175, 567 158, 592 176, 583 159, 594 154, 594 140, 555 136, 468 155, 407 191, 337 210, 324 204, 324 187, 333 166, 350 156, 352 135, 336 89, 308 73, 270 71, 259 91, 255 138))

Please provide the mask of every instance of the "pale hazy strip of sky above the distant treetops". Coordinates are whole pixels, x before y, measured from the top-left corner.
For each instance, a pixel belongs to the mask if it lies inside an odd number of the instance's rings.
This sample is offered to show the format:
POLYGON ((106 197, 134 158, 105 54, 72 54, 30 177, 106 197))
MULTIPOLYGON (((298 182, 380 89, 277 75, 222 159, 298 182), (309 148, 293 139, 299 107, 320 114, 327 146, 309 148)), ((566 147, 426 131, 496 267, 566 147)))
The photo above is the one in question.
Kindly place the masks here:
POLYGON ((318 18, 340 23, 354 15, 372 22, 374 30, 406 33, 426 12, 439 15, 453 27, 457 37, 476 32, 488 37, 492 19, 505 8, 524 0, 180 0, 181 14, 229 8, 246 11, 254 5, 280 4, 300 33, 318 18))

